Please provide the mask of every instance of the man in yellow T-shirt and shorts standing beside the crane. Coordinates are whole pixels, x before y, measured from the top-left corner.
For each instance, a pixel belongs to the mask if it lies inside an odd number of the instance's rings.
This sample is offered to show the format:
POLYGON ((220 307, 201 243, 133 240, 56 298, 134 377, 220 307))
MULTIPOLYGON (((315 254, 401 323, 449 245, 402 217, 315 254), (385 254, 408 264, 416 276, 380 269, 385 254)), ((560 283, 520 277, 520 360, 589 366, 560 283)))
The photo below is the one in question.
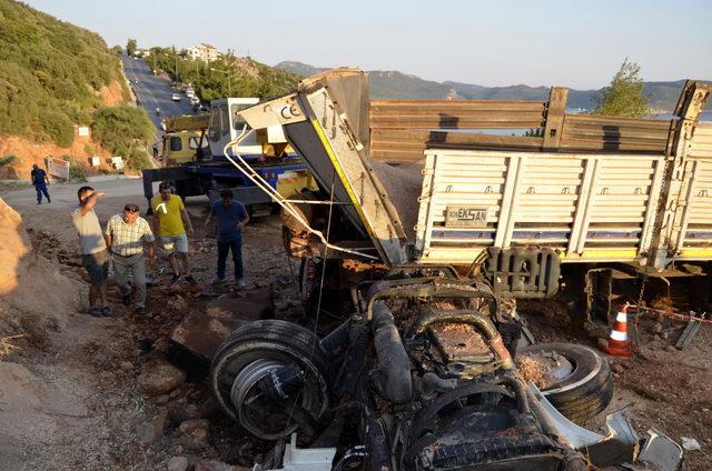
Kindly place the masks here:
POLYGON ((170 257, 170 267, 174 270, 170 284, 176 284, 181 279, 189 283, 197 283, 196 279, 190 274, 190 260, 188 259, 188 236, 186 236, 186 228, 190 236, 194 234, 188 211, 186 211, 186 207, 180 197, 172 194, 172 188, 169 182, 161 182, 158 190, 160 196, 151 200, 154 233, 158 237, 158 241, 170 257), (176 252, 178 252, 178 257, 182 262, 182 275, 178 270, 176 252))

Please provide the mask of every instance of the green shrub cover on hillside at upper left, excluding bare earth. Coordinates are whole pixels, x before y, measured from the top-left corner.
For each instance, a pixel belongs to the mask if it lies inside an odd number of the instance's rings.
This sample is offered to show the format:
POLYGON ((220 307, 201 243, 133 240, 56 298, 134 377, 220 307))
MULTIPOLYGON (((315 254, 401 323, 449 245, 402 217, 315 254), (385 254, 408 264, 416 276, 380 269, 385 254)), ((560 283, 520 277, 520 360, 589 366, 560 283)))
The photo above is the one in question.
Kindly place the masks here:
POLYGON ((69 146, 117 80, 119 59, 97 33, 0 0, 0 134, 69 146))

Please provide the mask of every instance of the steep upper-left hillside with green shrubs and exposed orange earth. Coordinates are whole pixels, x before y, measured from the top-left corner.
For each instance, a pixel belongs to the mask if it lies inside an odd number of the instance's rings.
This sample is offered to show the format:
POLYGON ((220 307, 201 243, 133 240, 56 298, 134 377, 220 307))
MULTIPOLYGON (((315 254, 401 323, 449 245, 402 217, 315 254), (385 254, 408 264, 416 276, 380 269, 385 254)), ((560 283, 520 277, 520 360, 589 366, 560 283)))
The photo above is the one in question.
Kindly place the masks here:
MULTIPOLYGON (((121 154, 79 137, 77 126, 106 124, 99 111, 128 100, 119 58, 99 34, 0 0, 0 178, 27 178, 49 154, 80 166, 89 156, 121 154)), ((142 117, 134 124, 141 128, 142 117)), ((127 140, 136 138, 142 133, 127 140)))

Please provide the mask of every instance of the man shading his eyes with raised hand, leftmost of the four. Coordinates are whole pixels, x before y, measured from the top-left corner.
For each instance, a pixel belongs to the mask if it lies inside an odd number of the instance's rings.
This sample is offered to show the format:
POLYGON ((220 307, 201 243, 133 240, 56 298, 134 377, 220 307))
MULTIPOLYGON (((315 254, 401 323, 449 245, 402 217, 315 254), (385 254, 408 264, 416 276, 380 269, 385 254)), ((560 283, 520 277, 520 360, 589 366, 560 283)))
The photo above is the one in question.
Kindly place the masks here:
POLYGON ((89 313, 93 317, 111 315, 107 302, 107 278, 109 275, 109 251, 101 233, 101 224, 93 211, 103 191, 91 187, 81 187, 77 192, 79 204, 71 213, 71 222, 79 236, 81 263, 89 274, 89 313), (101 304, 97 305, 97 298, 101 304))

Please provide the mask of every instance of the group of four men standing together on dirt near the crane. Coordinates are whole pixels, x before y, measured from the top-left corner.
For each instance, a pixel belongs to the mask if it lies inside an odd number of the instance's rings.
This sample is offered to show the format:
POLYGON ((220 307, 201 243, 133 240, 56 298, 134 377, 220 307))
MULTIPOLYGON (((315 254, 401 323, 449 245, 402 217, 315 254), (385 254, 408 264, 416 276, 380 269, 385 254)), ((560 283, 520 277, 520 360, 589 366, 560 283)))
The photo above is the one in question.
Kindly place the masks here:
MULTIPOLYGON (((136 287, 135 312, 146 312, 146 264, 145 252, 152 265, 156 259, 156 241, 161 244, 169 255, 172 269, 171 284, 181 280, 197 283, 191 274, 188 250, 188 234, 194 229, 190 217, 186 211, 182 199, 172 194, 171 186, 164 182, 159 186, 160 194, 151 200, 154 211, 154 228, 139 216, 137 204, 129 203, 123 212, 112 216, 101 230, 95 207, 99 198, 106 196, 102 191, 95 191, 91 187, 81 187, 77 193, 79 204, 71 214, 72 223, 79 236, 81 259, 91 287, 89 288, 89 313, 95 317, 110 317, 111 308, 107 301, 107 279, 109 263, 113 263, 116 283, 121 292, 123 305, 131 303, 131 284, 129 273, 134 275, 136 287), (186 233, 186 229, 188 234, 186 233), (155 236, 156 234, 156 236, 155 236), (145 250, 146 249, 146 250, 145 250), (179 260, 180 265, 179 267, 179 260), (179 270, 182 268, 182 271, 179 270)), ((228 251, 233 251, 235 262, 235 281, 245 287, 241 259, 241 231, 249 217, 245 206, 233 201, 233 192, 224 190, 220 201, 216 201, 206 220, 206 227, 211 216, 218 220, 218 268, 217 281, 225 280, 226 259, 228 251)))

